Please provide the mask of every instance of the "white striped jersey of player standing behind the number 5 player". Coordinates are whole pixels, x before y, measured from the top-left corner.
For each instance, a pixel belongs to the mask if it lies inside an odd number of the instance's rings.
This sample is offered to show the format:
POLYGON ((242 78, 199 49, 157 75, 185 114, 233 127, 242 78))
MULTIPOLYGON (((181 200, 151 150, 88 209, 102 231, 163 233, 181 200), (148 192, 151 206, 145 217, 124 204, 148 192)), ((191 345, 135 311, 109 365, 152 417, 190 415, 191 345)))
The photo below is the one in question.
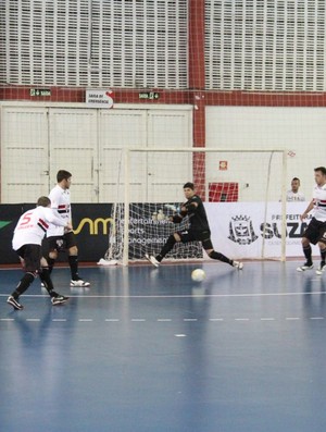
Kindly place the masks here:
MULTIPOLYGON (((49 198, 51 199, 51 208, 54 214, 62 219, 62 221, 67 224, 72 220, 72 209, 71 209, 71 193, 68 189, 63 189, 59 185, 54 186, 50 192, 49 198)), ((57 235, 63 235, 64 229, 62 226, 55 226, 50 224, 47 232, 47 237, 52 237, 57 235)))

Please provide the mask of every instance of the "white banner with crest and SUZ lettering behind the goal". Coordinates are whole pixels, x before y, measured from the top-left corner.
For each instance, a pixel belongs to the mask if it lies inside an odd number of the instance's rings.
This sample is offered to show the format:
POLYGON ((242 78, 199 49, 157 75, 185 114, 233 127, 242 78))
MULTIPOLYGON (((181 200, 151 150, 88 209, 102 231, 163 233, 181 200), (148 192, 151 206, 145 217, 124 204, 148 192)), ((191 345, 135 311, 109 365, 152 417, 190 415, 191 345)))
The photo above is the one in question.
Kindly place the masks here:
MULTIPOLYGON (((309 202, 287 202, 287 257, 301 257, 301 237, 311 219, 301 222, 309 202)), ((205 209, 216 250, 236 258, 280 257, 281 203, 268 202, 206 202, 205 209), (266 211, 266 224, 264 225, 266 211)), ((313 252, 317 254, 313 247, 313 252)))

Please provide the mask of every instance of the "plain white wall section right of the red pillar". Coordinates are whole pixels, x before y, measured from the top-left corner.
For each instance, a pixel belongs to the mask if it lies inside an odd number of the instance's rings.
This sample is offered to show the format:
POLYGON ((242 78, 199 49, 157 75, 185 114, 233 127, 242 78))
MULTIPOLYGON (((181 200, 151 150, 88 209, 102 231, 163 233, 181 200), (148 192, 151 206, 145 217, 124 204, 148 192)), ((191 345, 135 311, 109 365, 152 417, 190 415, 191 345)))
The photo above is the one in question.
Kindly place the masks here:
MULTIPOLYGON (((268 107, 206 107, 206 146, 220 148, 280 148, 291 150, 287 158, 287 184, 293 176, 301 180, 301 190, 310 199, 314 184, 313 169, 326 165, 326 109, 325 108, 268 108, 268 107)), ((251 159, 242 155, 242 163, 222 172, 211 166, 210 178, 239 181, 240 199, 255 200, 262 195, 266 177, 266 161, 260 155, 251 159), (264 166, 264 169, 262 169, 264 166), (249 183, 249 188, 244 184, 249 183)), ((279 163, 276 163, 276 165, 279 163)), ((269 199, 279 197, 280 170, 272 173, 269 199)))

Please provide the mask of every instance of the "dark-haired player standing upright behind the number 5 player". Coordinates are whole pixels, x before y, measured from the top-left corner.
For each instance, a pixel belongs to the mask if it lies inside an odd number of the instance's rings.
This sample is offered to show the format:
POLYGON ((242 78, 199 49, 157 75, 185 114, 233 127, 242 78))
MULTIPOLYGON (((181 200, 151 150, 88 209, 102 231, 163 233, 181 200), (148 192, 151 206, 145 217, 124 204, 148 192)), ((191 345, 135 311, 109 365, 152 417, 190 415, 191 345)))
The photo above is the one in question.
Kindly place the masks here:
MULTIPOLYGON (((68 171, 60 170, 57 174, 57 186, 53 187, 49 195, 51 207, 58 218, 61 218, 64 222, 71 223, 72 209, 70 187, 72 183, 72 174, 68 171)), ((71 286, 89 286, 89 282, 83 281, 78 275, 78 248, 73 230, 64 232, 62 226, 51 224, 47 232, 47 237, 49 244, 48 262, 50 273, 58 258, 58 254, 62 250, 66 250, 72 273, 71 286)))

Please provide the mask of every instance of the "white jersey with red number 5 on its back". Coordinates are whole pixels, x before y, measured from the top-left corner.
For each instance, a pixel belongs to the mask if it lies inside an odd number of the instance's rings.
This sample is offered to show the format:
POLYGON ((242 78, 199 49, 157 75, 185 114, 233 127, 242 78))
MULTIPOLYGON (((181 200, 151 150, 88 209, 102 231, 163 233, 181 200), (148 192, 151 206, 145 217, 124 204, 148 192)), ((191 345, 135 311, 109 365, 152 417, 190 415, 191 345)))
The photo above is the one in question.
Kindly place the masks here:
POLYGON ((17 250, 24 245, 41 245, 50 223, 60 225, 62 230, 67 224, 64 220, 57 218, 49 207, 38 206, 25 211, 14 231, 13 249, 17 250))

